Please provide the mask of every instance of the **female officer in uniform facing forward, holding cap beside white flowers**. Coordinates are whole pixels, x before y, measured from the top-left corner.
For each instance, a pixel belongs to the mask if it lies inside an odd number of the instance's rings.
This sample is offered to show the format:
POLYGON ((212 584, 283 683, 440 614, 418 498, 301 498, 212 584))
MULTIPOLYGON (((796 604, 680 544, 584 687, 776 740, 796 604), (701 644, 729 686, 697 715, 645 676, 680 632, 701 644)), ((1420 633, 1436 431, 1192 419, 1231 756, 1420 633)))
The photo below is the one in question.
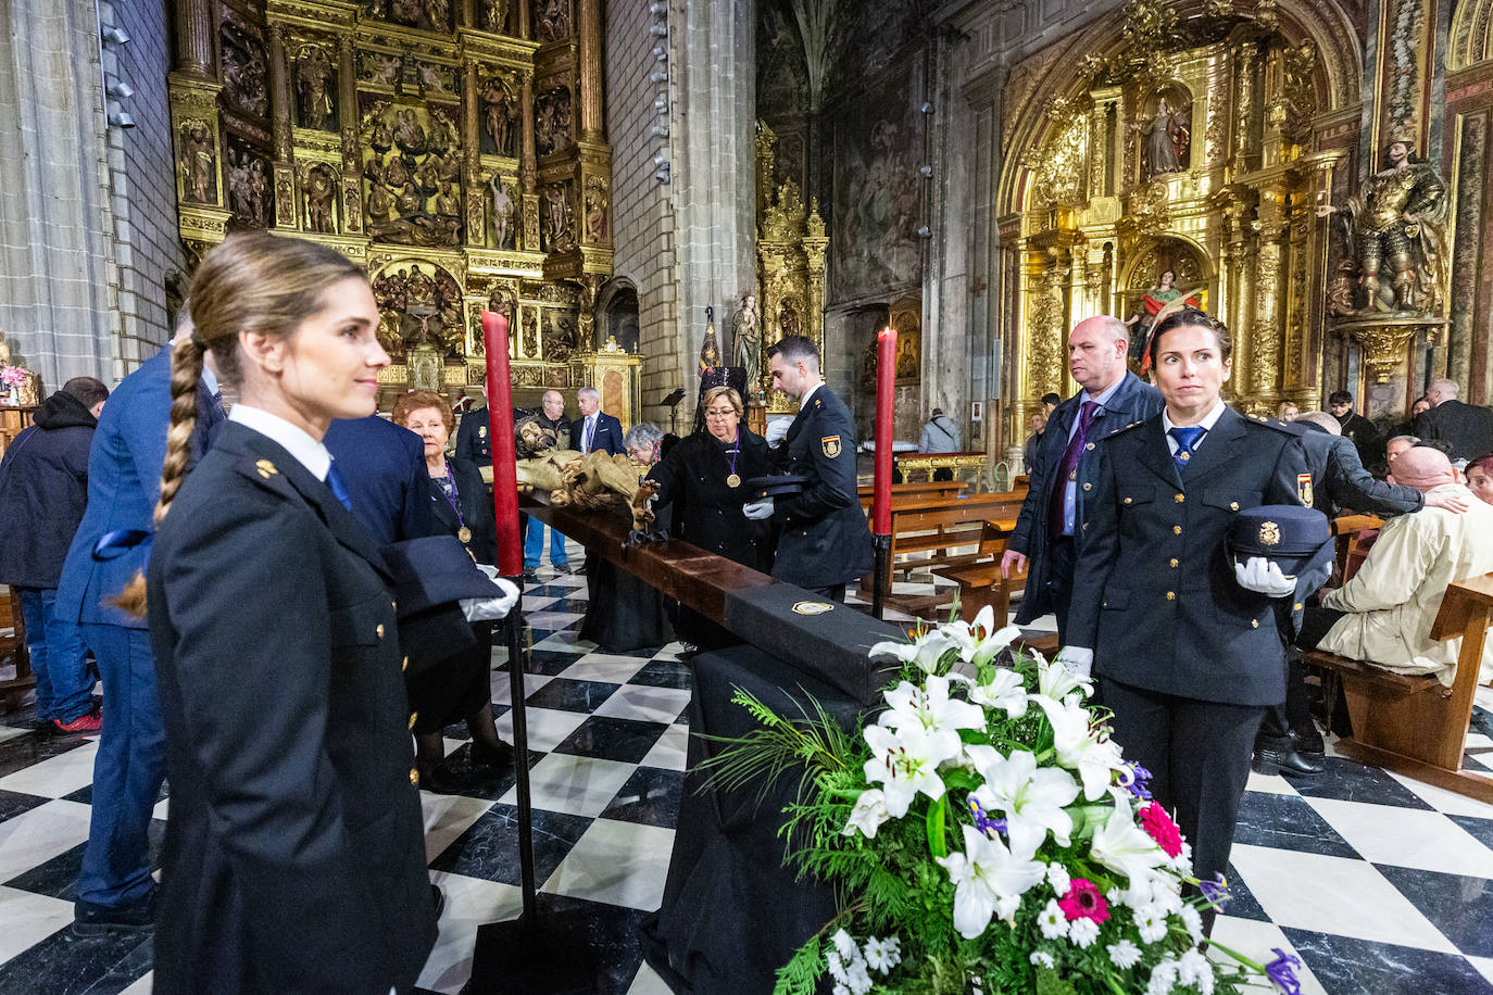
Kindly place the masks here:
POLYGON ((1284 422, 1220 400, 1221 322, 1188 307, 1157 325, 1150 349, 1166 407, 1099 443, 1063 656, 1093 662, 1115 740, 1151 771, 1209 880, 1229 865, 1254 732, 1285 698, 1277 618, 1288 613, 1275 609, 1294 589, 1263 559, 1236 571, 1229 524, 1241 509, 1309 501, 1297 488, 1311 477, 1284 422))

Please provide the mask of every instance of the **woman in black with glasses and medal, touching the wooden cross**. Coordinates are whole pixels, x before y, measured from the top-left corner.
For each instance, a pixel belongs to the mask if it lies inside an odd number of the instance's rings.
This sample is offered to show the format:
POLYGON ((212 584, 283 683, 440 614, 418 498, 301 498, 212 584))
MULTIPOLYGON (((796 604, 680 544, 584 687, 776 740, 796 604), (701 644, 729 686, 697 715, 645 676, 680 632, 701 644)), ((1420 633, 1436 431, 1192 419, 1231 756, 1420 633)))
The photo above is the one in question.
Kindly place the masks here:
MULTIPOLYGON (((705 431, 697 431, 669 451, 646 480, 655 489, 657 507, 684 501, 676 515, 678 537, 708 552, 761 570, 772 570, 772 543, 766 522, 742 515, 745 482, 769 471, 767 442, 742 425, 741 394, 712 386, 700 398, 705 431)), ((687 609, 679 612, 679 630, 699 646, 730 641, 687 609)))

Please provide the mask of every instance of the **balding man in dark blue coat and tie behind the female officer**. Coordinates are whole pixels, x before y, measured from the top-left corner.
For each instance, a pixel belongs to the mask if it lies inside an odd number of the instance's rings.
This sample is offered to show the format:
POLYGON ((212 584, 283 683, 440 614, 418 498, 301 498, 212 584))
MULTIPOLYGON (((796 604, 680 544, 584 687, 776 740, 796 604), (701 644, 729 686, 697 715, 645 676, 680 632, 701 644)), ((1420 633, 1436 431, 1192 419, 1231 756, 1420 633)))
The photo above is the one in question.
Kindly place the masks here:
POLYGON ((1082 546, 1084 495, 1099 468, 1094 442, 1115 428, 1162 410, 1162 395, 1126 365, 1130 330, 1118 318, 1085 318, 1067 337, 1067 371, 1079 391, 1048 418, 1015 531, 1006 542, 1000 571, 1027 570, 1017 625, 1048 612, 1057 615, 1066 644, 1073 564, 1082 546))

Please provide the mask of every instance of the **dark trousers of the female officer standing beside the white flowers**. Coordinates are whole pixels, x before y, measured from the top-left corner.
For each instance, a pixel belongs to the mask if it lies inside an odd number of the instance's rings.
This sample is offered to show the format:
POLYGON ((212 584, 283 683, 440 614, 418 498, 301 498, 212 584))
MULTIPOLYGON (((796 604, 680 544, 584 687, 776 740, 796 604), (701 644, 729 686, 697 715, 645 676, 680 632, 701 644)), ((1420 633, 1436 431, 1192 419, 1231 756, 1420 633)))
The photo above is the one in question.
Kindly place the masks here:
POLYGON ((1205 882, 1227 873, 1265 709, 1179 698, 1108 677, 1100 689, 1126 759, 1151 771, 1151 794, 1193 844, 1193 873, 1205 882))

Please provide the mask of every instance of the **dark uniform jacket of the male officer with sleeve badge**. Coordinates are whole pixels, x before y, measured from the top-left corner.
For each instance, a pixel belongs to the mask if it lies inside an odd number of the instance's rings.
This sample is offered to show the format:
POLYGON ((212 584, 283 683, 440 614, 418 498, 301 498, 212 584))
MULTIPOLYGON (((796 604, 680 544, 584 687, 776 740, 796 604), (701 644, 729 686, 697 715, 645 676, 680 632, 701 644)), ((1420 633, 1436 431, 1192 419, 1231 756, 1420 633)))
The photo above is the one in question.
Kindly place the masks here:
POLYGON ((773 501, 779 534, 772 576, 833 588, 870 573, 870 525, 855 488, 855 425, 830 388, 821 383, 799 406, 773 462, 809 482, 800 494, 773 501))

